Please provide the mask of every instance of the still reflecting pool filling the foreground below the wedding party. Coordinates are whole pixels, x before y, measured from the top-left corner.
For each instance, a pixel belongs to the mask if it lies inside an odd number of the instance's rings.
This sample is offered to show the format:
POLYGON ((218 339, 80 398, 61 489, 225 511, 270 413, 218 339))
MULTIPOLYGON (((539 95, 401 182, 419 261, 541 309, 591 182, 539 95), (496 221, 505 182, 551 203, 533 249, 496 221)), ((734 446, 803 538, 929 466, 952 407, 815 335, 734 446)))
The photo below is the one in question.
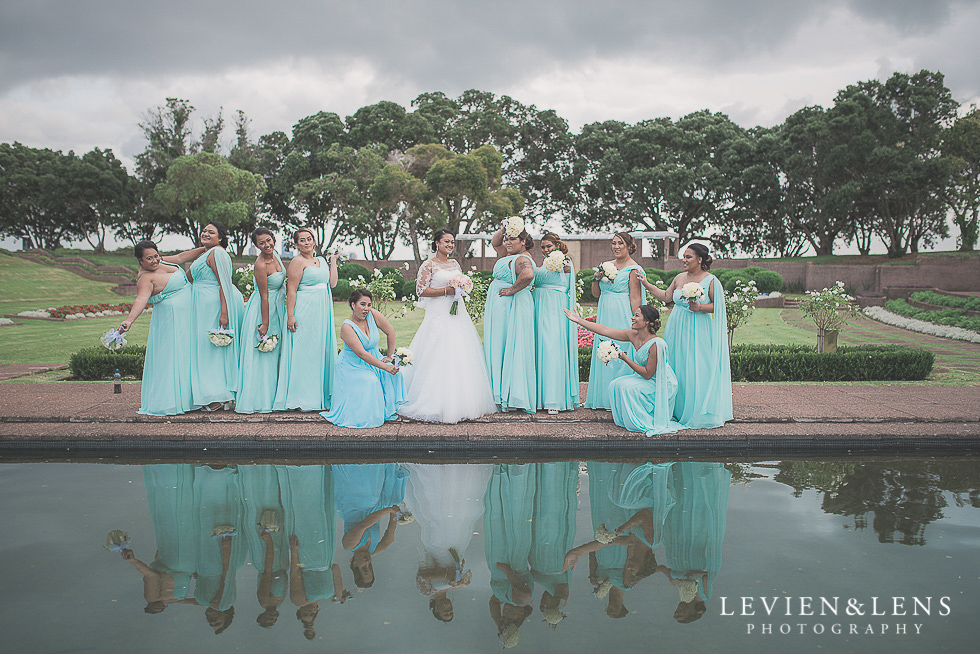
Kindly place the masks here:
POLYGON ((974 459, 0 467, 7 651, 975 651, 974 459))

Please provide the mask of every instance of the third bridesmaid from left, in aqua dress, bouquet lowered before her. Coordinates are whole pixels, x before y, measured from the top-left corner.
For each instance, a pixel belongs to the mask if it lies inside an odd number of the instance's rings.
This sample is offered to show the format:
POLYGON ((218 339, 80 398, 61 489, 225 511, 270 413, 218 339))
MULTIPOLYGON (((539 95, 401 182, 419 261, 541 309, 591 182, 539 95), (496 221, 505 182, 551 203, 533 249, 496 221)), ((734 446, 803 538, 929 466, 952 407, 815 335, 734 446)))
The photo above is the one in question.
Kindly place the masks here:
POLYGON ((256 349, 259 339, 278 336, 282 340, 286 313, 286 269, 276 253, 276 237, 259 227, 252 232, 252 243, 262 252, 255 260, 255 292, 245 305, 242 317, 242 359, 235 400, 238 413, 268 413, 276 399, 279 381, 279 353, 256 349))

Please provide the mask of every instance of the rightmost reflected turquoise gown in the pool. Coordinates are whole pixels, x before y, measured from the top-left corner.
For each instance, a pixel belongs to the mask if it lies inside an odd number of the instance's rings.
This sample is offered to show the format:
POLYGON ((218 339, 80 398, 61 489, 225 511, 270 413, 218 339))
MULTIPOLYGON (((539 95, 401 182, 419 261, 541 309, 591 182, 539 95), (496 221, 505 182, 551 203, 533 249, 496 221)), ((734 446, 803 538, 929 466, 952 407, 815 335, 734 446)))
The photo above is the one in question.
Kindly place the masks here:
POLYGON ((722 463, 685 461, 673 465, 671 487, 677 503, 664 524, 664 552, 671 577, 698 580, 697 594, 711 599, 721 570, 732 473, 722 463), (707 581, 702 584, 707 572, 707 581))

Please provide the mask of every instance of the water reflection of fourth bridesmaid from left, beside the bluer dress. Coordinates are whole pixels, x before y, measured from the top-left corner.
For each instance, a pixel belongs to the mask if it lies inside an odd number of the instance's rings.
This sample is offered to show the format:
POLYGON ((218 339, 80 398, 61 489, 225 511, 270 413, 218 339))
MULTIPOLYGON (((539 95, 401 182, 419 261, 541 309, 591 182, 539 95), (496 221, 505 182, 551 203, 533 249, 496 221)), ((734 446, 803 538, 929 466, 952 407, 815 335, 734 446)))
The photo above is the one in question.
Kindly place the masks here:
POLYGON ((280 466, 279 486, 289 532, 289 600, 303 635, 313 640, 319 601, 344 599, 340 566, 333 562, 337 515, 330 466, 280 466))

